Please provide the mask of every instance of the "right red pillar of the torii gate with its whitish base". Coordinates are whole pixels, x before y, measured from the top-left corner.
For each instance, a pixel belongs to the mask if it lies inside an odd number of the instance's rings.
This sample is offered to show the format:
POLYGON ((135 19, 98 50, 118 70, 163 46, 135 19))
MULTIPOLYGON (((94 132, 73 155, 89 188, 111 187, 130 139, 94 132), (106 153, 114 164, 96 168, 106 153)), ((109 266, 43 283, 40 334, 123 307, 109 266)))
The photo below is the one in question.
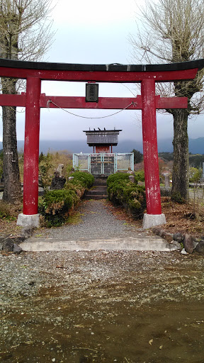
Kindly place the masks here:
POLYGON ((144 217, 143 220, 143 228, 150 228, 153 225, 166 223, 166 218, 164 215, 162 215, 159 186, 157 119, 154 79, 142 80, 141 87, 142 136, 145 166, 145 189, 147 200, 147 215, 144 217))

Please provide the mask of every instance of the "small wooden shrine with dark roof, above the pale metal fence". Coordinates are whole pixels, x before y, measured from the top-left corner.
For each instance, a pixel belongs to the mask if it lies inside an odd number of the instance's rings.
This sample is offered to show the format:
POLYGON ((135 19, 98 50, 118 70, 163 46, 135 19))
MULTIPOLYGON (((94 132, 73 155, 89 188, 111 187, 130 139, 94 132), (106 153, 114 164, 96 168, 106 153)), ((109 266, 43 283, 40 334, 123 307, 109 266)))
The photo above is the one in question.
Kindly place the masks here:
POLYGON ((93 152, 106 152, 106 153, 112 153, 113 152, 113 146, 118 145, 118 135, 122 130, 106 130, 104 128, 101 130, 98 128, 96 130, 84 130, 83 132, 86 133, 87 136, 87 144, 89 146, 94 147, 93 152))

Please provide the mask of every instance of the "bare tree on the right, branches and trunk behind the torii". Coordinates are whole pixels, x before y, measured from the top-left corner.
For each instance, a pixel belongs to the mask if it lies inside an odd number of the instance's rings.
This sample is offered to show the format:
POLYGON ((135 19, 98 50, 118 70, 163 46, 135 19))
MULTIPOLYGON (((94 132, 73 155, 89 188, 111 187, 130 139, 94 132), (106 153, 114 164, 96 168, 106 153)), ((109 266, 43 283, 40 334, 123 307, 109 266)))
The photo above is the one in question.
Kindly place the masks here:
MULTIPOLYGON (((134 60, 171 63, 204 57, 203 0, 146 1, 139 9, 137 35, 130 35, 134 60)), ((188 117, 203 111, 203 69, 192 81, 158 84, 163 96, 188 97, 187 109, 166 110, 174 117, 171 199, 188 199, 188 117)))

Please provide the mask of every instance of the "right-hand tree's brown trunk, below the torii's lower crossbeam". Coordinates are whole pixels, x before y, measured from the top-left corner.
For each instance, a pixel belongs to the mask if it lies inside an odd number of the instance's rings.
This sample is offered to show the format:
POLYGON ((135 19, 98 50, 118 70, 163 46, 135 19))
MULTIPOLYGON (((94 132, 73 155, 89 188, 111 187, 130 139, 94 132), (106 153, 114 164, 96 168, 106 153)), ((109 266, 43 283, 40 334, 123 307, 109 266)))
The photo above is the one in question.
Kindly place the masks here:
POLYGON ((188 200, 188 110, 172 110, 174 116, 174 164, 171 199, 188 200))

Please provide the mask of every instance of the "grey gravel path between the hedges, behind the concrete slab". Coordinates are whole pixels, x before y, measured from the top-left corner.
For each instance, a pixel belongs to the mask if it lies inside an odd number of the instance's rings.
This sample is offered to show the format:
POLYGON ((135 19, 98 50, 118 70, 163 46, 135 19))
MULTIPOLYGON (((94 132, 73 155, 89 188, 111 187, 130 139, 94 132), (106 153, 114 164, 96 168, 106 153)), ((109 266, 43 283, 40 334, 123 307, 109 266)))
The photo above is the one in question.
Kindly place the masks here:
MULTIPOLYGON (((47 238, 75 240, 147 235, 147 232, 141 232, 135 225, 116 218, 104 200, 82 201, 77 212, 80 215, 79 223, 64 225, 60 228, 47 228, 42 230, 42 233, 40 231, 40 237, 45 234, 47 238)), ((34 237, 38 236, 37 230, 34 237)))

